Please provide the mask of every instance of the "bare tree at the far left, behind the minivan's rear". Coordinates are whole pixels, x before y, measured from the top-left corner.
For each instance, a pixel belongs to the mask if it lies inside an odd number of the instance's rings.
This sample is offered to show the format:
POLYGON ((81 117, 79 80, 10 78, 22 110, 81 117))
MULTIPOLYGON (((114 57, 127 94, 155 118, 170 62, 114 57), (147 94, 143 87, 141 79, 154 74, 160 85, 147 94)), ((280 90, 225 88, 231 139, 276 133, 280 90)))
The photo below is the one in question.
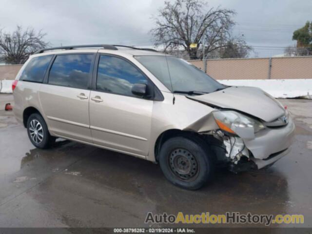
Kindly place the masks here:
POLYGON ((43 38, 46 36, 41 30, 36 33, 31 27, 23 31, 21 26, 11 34, 0 30, 0 54, 6 63, 24 63, 30 55, 49 45, 43 38))

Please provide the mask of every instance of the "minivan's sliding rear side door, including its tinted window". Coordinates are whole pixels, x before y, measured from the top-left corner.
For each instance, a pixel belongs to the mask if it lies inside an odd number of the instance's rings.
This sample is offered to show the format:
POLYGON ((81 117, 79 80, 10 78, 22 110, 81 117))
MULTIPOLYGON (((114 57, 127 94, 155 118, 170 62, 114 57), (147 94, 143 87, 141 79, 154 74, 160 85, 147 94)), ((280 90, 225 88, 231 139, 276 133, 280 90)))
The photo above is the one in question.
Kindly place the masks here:
POLYGON ((92 143, 89 98, 95 54, 58 54, 39 92, 49 130, 92 143))

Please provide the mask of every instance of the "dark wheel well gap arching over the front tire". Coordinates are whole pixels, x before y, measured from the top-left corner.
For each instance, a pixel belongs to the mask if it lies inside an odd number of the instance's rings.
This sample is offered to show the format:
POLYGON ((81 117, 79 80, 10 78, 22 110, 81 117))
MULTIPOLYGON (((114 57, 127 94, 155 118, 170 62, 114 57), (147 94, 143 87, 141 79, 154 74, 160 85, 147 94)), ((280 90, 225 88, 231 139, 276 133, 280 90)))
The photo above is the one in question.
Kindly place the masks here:
POLYGON ((158 158, 159 158, 159 152, 160 152, 160 148, 161 145, 168 139, 172 138, 172 137, 199 137, 202 138, 201 135, 199 135, 196 132, 191 132, 191 131, 183 131, 183 130, 178 130, 178 129, 170 129, 167 130, 165 132, 163 132, 162 134, 160 134, 160 136, 157 138, 156 140, 156 144, 155 144, 155 160, 156 162, 158 162, 158 158))

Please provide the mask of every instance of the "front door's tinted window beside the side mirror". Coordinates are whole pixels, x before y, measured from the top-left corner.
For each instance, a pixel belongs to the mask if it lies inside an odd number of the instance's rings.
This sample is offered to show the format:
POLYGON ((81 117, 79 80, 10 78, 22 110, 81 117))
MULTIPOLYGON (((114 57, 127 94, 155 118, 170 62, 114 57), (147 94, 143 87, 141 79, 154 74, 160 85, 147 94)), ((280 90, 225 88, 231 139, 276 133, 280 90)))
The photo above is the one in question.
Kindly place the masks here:
POLYGON ((97 90, 135 96, 131 92, 135 83, 147 84, 147 78, 134 65, 117 57, 100 56, 97 90))

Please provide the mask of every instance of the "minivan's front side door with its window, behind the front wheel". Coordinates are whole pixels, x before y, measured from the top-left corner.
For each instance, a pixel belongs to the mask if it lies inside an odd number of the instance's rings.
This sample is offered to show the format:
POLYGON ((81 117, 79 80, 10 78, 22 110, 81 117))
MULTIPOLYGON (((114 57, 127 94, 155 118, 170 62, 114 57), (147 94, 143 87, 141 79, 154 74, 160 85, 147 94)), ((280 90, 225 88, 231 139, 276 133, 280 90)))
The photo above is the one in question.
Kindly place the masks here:
MULTIPOLYGON (((145 157, 151 131, 153 100, 132 94, 148 78, 129 60, 98 55, 90 94, 90 128, 95 144, 145 157)), ((150 86, 148 86, 150 87, 150 86)))

